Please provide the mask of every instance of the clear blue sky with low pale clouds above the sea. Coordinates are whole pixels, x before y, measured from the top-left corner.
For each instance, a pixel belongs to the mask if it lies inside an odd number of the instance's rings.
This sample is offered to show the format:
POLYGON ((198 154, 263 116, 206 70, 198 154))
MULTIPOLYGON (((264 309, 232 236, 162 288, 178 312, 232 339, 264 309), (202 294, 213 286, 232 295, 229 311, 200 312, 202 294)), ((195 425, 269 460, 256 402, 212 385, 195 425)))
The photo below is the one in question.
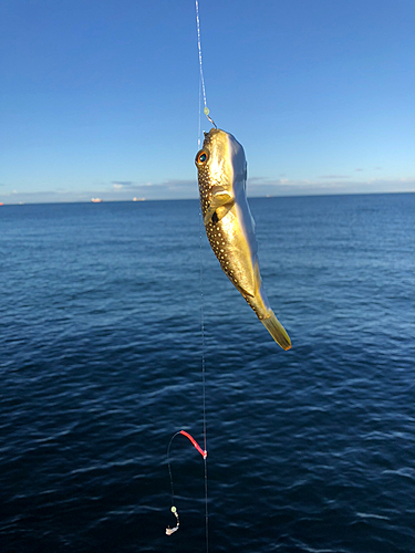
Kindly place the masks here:
MULTIPOLYGON (((414 0, 199 11, 250 196, 415 191, 414 0)), ((0 201, 197 197, 194 0, 2 0, 0 50, 0 201)))

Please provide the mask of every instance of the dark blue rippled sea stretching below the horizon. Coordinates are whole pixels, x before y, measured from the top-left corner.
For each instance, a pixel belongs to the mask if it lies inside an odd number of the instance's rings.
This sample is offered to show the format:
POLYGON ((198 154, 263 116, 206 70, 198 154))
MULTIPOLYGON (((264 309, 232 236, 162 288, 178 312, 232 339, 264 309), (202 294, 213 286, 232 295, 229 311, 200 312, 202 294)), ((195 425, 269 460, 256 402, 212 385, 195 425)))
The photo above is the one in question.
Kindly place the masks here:
POLYGON ((203 363, 210 552, 415 551, 415 195, 250 204, 289 352, 196 200, 0 208, 2 553, 206 551, 203 363))

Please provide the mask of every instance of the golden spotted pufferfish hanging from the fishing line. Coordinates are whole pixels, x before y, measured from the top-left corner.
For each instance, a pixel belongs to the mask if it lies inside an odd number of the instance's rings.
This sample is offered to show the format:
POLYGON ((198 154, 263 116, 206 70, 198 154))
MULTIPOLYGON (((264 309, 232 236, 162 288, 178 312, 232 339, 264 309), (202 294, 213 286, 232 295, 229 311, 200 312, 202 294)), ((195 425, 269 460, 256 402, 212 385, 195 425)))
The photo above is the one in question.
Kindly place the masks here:
POLYGON ((273 340, 289 349, 291 341, 268 303, 259 272, 242 146, 231 134, 211 128, 195 163, 206 234, 220 267, 273 340))

